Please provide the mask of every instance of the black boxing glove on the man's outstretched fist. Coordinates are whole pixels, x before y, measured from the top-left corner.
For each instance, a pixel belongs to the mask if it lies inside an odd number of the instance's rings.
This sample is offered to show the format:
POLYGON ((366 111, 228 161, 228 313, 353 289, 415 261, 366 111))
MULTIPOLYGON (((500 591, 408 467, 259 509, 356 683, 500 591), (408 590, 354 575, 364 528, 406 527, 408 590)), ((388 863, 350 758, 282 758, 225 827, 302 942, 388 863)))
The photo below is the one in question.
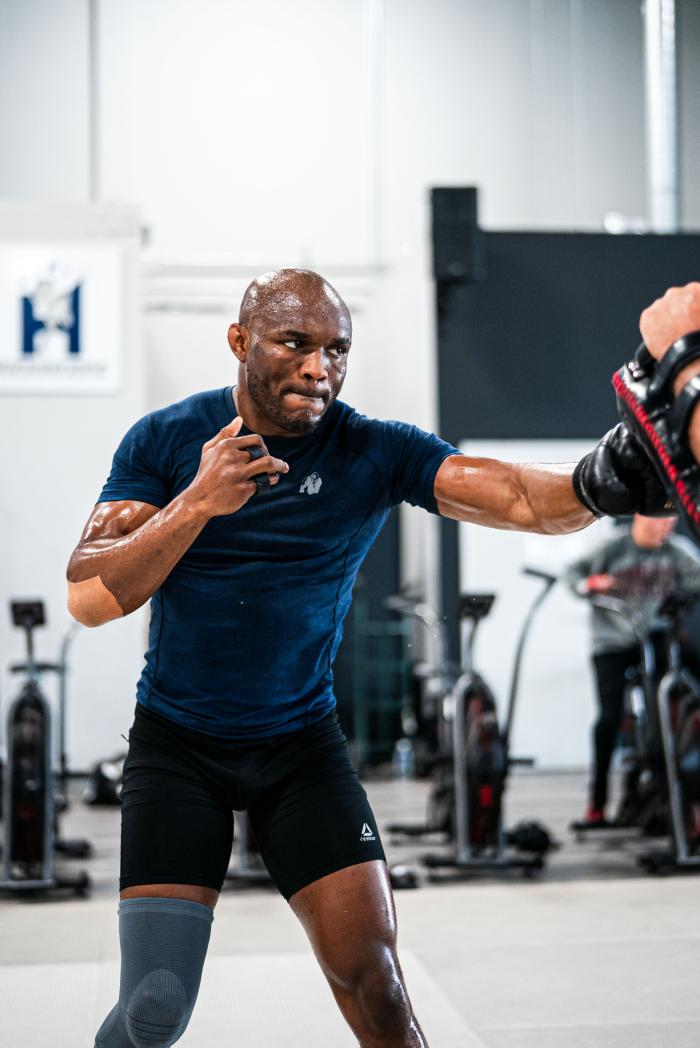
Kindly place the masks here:
POLYGON ((571 479, 578 501, 596 517, 674 511, 656 470, 622 422, 578 462, 571 479))

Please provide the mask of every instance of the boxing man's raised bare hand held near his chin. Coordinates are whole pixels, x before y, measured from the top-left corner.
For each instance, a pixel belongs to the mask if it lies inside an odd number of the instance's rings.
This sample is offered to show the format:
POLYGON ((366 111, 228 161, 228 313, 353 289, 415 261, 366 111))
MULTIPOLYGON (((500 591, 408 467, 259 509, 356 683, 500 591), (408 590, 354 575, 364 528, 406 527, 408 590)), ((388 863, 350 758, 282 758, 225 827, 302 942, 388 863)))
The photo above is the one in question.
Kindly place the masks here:
POLYGON ((199 470, 188 496, 206 517, 235 514, 245 505, 256 494, 256 476, 267 474, 269 484, 275 485, 279 475, 289 471, 286 462, 269 454, 257 433, 239 437, 242 424, 239 415, 202 447, 199 470))

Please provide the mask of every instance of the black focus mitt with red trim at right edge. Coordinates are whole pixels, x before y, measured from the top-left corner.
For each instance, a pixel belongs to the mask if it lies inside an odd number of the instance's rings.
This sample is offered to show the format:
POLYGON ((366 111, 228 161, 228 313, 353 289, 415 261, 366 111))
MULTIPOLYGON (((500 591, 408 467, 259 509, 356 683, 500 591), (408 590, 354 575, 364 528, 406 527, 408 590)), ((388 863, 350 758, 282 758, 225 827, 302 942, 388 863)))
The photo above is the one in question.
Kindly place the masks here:
POLYGON ((700 331, 678 339, 661 361, 644 344, 613 375, 617 407, 626 427, 654 463, 670 507, 675 505, 700 541, 700 466, 691 452, 687 428, 700 398, 695 377, 676 396, 673 385, 682 368, 700 357, 700 331))

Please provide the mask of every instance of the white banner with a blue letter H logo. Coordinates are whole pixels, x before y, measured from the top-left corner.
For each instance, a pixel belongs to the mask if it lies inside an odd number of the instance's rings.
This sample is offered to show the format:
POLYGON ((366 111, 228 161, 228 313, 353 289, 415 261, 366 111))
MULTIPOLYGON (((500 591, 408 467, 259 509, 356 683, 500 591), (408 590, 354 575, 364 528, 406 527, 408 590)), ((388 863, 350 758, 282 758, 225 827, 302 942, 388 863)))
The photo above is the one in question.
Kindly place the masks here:
POLYGON ((117 244, 0 244, 0 394, 115 392, 123 307, 117 244))

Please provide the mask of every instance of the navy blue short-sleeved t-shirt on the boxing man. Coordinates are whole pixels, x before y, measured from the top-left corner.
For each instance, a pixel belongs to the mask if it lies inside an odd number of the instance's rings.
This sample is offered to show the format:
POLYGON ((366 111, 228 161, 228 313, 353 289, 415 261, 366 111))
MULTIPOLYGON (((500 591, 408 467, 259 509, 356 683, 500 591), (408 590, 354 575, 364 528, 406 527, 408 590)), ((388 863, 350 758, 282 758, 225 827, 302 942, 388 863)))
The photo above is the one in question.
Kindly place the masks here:
MULTIPOLYGON (((167 505, 235 415, 226 387, 141 418, 99 501, 167 505)), ((291 732, 334 706, 332 664, 357 570, 393 506, 437 512, 435 475, 459 454, 338 401, 314 433, 265 443, 289 473, 210 520, 153 594, 136 693, 171 720, 232 739, 291 732)))

